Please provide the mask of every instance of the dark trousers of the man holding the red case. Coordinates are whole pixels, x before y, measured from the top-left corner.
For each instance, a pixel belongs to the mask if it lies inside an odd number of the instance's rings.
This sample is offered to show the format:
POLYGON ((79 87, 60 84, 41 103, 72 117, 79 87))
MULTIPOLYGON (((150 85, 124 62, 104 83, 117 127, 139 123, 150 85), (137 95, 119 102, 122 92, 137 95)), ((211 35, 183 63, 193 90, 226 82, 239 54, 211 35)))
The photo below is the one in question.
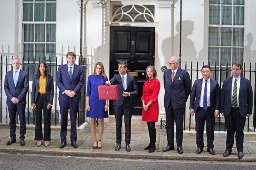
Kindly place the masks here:
POLYGON ((116 118, 116 143, 122 141, 122 121, 124 115, 125 126, 125 144, 131 143, 131 120, 132 120, 132 107, 115 106, 115 118, 116 118))

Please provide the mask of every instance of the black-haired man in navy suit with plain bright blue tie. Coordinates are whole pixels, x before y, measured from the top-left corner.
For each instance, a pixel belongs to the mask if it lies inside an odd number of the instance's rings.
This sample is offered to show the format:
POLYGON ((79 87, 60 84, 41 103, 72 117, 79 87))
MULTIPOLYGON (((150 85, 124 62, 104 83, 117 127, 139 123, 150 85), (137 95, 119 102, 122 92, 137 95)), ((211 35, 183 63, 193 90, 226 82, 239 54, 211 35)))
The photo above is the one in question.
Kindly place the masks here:
POLYGON ((196 113, 196 154, 204 148, 204 122, 206 122, 207 152, 215 154, 213 148, 215 117, 220 112, 220 86, 210 78, 210 66, 202 67, 202 77, 194 82, 190 94, 190 115, 196 113))

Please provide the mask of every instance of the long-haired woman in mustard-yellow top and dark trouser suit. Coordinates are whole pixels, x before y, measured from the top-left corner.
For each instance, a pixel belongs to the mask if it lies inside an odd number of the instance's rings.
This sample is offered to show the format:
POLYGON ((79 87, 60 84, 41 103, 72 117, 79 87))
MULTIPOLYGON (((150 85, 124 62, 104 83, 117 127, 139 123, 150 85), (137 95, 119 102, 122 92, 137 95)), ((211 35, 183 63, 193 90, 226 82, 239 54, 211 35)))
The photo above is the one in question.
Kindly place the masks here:
POLYGON ((51 123, 50 116, 52 110, 52 101, 54 96, 54 84, 53 78, 50 74, 46 62, 39 63, 36 70, 36 74, 33 77, 32 82, 32 96, 31 106, 35 110, 36 114, 36 129, 35 138, 36 145, 40 147, 42 145, 42 139, 44 139, 44 146, 48 146, 51 140, 51 123), (42 110, 44 112, 44 138, 42 133, 42 110))

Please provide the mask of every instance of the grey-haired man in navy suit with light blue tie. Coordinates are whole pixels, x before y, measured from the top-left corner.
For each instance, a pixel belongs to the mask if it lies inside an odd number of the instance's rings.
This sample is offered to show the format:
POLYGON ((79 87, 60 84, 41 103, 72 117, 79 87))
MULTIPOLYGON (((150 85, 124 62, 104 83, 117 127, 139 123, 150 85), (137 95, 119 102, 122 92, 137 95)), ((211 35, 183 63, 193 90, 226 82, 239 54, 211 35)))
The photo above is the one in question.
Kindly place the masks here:
POLYGON ((10 118, 10 140, 6 145, 16 143, 16 111, 18 111, 20 119, 20 145, 24 146, 26 134, 26 94, 28 92, 28 73, 20 69, 20 59, 15 57, 12 59, 12 68, 6 72, 4 78, 4 91, 7 96, 7 106, 10 118))

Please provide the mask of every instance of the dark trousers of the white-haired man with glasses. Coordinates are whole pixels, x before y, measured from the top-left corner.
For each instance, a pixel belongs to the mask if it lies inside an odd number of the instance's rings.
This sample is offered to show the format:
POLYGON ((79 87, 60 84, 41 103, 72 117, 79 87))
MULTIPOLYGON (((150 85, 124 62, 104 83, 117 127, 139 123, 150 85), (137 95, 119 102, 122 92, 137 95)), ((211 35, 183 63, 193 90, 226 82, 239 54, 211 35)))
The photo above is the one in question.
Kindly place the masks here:
POLYGON ((176 124, 177 147, 182 147, 183 140, 183 119, 185 108, 174 109, 172 105, 165 109, 166 114, 166 135, 168 146, 174 146, 174 120, 176 124))

